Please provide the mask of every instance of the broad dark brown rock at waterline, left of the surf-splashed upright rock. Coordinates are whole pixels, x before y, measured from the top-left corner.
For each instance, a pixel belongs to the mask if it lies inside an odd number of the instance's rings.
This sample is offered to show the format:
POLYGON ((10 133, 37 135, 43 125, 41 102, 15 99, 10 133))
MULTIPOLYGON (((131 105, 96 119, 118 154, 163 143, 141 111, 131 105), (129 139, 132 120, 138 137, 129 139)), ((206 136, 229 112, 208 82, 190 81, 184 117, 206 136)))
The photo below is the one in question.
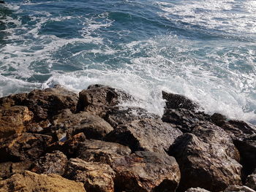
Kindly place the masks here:
POLYGON ((75 112, 78 96, 71 91, 61 88, 61 86, 56 86, 55 88, 31 91, 26 99, 24 99, 23 104, 34 112, 36 121, 41 121, 57 115, 64 109, 75 112))

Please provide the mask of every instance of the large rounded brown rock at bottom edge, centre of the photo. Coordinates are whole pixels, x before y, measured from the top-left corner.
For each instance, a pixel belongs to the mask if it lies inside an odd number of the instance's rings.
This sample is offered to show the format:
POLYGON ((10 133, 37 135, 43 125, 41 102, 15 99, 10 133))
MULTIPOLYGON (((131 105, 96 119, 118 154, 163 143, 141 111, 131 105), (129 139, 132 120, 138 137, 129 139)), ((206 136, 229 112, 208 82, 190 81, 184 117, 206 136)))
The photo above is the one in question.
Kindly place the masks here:
POLYGON ((176 191, 180 172, 175 158, 162 153, 138 151, 113 164, 115 191, 176 191))

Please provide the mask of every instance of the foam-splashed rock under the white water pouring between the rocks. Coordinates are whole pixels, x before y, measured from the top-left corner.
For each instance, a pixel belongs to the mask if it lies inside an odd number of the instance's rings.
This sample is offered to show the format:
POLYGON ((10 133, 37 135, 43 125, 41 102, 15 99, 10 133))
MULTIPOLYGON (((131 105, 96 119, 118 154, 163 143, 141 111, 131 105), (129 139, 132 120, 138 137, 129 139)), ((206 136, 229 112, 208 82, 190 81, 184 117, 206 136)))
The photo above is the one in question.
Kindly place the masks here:
POLYGON ((111 107, 104 119, 108 121, 113 128, 116 128, 118 125, 145 118, 159 119, 160 117, 140 107, 111 107))

